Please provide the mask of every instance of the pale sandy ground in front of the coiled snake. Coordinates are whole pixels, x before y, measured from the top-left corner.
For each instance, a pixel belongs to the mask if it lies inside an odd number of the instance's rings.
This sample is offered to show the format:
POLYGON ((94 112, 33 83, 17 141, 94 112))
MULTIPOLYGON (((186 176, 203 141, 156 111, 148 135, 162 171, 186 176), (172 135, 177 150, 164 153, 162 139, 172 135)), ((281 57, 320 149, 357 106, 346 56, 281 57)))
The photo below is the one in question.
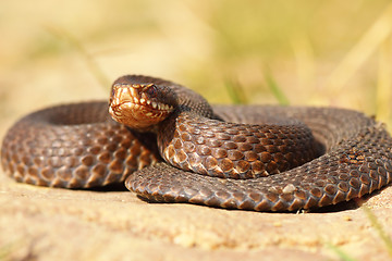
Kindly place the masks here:
MULTIPOLYGON (((389 187, 366 202, 387 234, 391 196, 389 187)), ((389 260, 366 212, 347 206, 321 213, 228 211, 0 175, 0 243, 5 260, 339 260, 336 249, 356 260, 389 260)))

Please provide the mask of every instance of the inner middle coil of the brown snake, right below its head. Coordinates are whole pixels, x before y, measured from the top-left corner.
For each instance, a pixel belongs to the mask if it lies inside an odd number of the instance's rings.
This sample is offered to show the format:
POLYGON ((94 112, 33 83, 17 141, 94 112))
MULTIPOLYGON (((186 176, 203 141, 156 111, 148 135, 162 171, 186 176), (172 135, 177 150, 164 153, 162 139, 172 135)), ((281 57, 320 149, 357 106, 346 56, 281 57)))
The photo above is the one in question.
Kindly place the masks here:
POLYGON ((321 153, 304 124, 236 124, 194 112, 179 112, 162 122, 158 147, 161 157, 179 169, 241 179, 278 174, 321 153))

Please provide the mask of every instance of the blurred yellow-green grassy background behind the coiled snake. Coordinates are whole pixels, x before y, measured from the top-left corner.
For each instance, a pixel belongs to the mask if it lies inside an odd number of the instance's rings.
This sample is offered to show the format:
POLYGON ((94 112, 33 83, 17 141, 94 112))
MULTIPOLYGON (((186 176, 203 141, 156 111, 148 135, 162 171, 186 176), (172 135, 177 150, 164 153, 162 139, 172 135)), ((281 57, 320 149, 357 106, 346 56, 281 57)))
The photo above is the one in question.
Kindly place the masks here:
POLYGON ((215 103, 352 108, 391 119, 388 0, 0 2, 1 133, 59 102, 107 99, 123 74, 215 103))

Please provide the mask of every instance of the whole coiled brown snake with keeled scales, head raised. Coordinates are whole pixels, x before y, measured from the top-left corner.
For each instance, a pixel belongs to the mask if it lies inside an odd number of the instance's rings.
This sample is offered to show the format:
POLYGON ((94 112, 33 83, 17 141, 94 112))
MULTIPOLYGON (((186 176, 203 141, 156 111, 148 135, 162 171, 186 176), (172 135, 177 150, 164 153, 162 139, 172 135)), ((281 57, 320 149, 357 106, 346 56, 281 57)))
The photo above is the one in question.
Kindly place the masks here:
POLYGON ((1 164, 16 182, 38 186, 125 183, 148 202, 285 212, 387 186, 392 138, 354 110, 211 105, 176 83, 125 75, 109 102, 22 117, 3 138, 1 164))

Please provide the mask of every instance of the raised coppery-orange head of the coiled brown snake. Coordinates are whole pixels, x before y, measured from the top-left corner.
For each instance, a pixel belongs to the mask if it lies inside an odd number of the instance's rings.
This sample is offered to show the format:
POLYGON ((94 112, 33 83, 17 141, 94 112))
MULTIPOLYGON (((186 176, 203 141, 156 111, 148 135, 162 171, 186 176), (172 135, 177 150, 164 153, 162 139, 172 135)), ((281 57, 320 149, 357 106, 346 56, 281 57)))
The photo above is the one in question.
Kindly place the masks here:
POLYGON ((112 85, 109 113, 128 127, 149 130, 168 117, 175 102, 175 95, 167 86, 123 76, 112 85))

